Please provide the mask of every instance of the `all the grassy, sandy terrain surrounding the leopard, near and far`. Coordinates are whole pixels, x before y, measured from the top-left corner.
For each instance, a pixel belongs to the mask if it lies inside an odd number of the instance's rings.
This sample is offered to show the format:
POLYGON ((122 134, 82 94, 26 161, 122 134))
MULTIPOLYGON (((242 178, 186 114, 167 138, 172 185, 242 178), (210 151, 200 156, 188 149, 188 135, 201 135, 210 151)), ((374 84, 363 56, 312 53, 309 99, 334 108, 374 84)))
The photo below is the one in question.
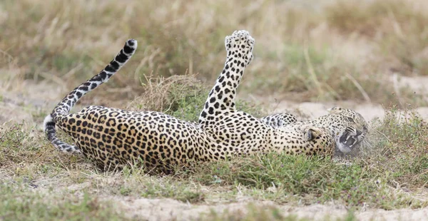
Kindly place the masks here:
POLYGON ((427 217, 425 1, 205 3, 0 3, 0 220, 427 217), (135 58, 74 110, 197 120, 223 67, 224 36, 235 29, 255 37, 238 108, 299 118, 353 108, 370 121, 372 146, 352 165, 267 155, 161 176, 103 173, 44 138, 46 114, 131 37, 140 45, 135 58))

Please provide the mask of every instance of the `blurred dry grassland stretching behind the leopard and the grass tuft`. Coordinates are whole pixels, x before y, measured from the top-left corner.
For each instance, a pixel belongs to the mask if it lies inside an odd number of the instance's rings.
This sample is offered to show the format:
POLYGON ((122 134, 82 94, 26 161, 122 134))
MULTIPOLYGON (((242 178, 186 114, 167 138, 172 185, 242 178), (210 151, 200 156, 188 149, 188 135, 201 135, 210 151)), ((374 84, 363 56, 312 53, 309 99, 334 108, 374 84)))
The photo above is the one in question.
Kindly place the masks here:
POLYGON ((425 0, 3 0, 0 123, 42 119, 128 38, 134 57, 82 105, 123 108, 160 76, 209 88, 237 29, 256 41, 238 96, 265 113, 340 105, 371 120, 394 106, 428 118, 427 11, 425 0))

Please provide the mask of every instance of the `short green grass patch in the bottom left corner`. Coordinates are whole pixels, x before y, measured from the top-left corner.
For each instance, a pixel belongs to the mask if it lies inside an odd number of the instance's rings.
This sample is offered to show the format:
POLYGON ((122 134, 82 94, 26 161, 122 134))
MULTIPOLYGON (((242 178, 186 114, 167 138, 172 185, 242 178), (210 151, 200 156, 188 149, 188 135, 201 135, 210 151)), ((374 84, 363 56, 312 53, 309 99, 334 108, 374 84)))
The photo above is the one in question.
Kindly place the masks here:
POLYGON ((37 192, 24 183, 0 183, 0 220, 130 220, 113 202, 57 192, 37 192))

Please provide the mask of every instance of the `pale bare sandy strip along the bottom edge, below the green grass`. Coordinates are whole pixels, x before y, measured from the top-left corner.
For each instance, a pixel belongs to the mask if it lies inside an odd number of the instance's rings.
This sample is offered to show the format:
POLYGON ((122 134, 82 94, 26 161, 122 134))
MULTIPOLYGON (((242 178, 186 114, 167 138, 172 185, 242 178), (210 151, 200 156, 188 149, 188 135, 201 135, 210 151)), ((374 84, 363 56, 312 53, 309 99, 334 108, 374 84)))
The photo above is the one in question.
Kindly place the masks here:
MULTIPOLYGON (((146 199, 139 197, 107 197, 118 202, 118 209, 126 211, 129 217, 143 220, 194 220, 204 214, 230 212, 245 214, 249 209, 257 207, 261 210, 276 207, 284 216, 293 215, 310 220, 332 220, 349 215, 350 211, 340 205, 277 205, 274 202, 242 202, 220 203, 213 205, 191 205, 171 199, 146 199)), ((423 220, 428 215, 428 208, 421 210, 372 210, 363 208, 355 212, 358 220, 423 220)))

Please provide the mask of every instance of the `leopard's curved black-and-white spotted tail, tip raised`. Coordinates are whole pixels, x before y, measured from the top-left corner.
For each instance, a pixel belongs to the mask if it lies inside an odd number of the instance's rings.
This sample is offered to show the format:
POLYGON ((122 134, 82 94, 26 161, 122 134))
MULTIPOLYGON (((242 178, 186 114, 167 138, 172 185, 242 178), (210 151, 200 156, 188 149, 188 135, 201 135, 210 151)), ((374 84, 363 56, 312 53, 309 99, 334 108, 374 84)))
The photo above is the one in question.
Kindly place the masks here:
POLYGON ((116 57, 111 61, 106 68, 103 69, 96 76, 93 76, 91 79, 82 83, 77 88, 74 88, 73 91, 68 93, 68 95, 63 98, 63 100, 58 103, 54 108, 51 114, 47 115, 44 119, 44 132, 48 140, 56 147, 58 150, 61 150, 66 153, 80 153, 80 150, 75 145, 69 145, 64 143, 56 137, 55 124, 61 122, 61 118, 68 115, 71 108, 77 103, 77 101, 89 91, 100 86, 102 83, 108 81, 108 79, 113 76, 125 63, 131 58, 133 53, 136 51, 137 41, 134 39, 129 39, 126 41, 125 46, 122 50, 116 55, 116 57))

